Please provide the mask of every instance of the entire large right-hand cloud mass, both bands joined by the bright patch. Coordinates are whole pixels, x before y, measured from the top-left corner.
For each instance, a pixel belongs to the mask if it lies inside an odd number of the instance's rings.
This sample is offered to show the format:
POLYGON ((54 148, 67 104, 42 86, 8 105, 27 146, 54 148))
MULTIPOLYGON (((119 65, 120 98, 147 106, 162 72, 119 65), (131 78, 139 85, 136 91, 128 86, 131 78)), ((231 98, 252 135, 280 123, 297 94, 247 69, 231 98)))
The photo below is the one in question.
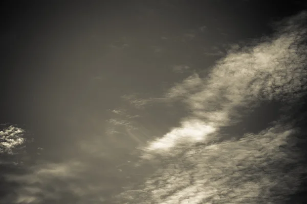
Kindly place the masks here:
MULTIPOLYGON (((204 78, 194 73, 165 94, 190 110, 181 125, 141 148, 140 165, 156 173, 116 197, 121 203, 281 203, 306 173, 295 148, 305 134, 284 120, 257 134, 221 138, 219 130, 240 117, 279 101, 293 107, 306 94, 307 14, 284 20, 272 37, 233 46, 204 78), (300 164, 300 165, 297 165, 300 164)), ((295 121, 295 118, 291 120, 295 121)))

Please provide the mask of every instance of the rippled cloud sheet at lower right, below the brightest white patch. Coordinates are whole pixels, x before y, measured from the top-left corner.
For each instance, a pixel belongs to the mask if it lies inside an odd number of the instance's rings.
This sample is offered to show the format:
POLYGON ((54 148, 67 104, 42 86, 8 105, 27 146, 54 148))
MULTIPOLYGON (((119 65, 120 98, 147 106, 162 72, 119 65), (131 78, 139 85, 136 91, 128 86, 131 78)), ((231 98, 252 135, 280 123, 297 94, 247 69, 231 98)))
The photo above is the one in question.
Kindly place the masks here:
MULTIPOLYGON (((238 141, 198 146, 119 197, 126 203, 280 203, 299 186, 303 166, 277 125, 238 141), (280 149, 283 146, 283 149, 280 149)), ((163 160, 163 158, 160 158, 163 160)))

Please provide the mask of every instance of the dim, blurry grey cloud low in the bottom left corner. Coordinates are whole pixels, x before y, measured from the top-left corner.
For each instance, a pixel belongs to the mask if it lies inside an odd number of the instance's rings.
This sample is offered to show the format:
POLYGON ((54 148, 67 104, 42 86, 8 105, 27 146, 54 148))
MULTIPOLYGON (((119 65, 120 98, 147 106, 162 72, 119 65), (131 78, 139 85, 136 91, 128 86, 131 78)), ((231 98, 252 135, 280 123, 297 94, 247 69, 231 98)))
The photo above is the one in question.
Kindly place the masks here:
POLYGON ((79 175, 84 170, 82 163, 70 161, 37 164, 28 169, 29 173, 6 175, 8 182, 20 184, 14 190, 17 196, 8 196, 6 199, 12 199, 12 203, 42 203, 61 199, 65 193, 83 197, 91 193, 89 186, 78 185, 78 180, 82 180, 79 175))

